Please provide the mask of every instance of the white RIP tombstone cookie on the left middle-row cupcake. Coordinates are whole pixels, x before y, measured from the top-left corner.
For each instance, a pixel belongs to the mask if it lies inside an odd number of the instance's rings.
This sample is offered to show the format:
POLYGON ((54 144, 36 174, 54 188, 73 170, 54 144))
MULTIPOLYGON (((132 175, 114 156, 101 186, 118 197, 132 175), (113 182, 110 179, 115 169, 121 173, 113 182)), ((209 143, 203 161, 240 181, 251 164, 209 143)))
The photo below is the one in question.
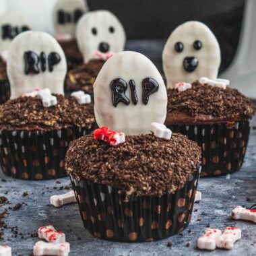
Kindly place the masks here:
POLYGON ((64 94, 66 73, 65 55, 53 36, 28 31, 11 42, 7 58, 11 98, 36 88, 49 88, 52 93, 64 94))

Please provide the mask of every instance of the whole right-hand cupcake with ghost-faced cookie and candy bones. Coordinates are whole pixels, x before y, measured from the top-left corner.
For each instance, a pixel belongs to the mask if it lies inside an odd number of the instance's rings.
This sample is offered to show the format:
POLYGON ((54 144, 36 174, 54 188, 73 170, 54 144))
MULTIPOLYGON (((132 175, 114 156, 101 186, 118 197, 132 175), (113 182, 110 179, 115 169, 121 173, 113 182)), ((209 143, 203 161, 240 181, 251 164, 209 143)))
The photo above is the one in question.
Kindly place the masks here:
POLYGON ((200 22, 186 22, 172 32, 163 51, 167 80, 165 125, 197 141, 203 150, 201 176, 241 168, 254 108, 229 81, 218 79, 220 47, 200 22))

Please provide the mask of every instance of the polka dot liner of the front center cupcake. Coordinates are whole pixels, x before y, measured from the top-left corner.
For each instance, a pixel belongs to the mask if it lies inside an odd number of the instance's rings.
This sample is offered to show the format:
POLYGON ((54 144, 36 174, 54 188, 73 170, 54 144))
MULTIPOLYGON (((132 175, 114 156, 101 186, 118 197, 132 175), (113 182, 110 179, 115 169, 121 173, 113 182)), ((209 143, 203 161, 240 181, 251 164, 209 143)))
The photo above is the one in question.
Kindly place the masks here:
POLYGON ((172 236, 191 220, 201 167, 174 194, 126 199, 118 189, 71 177, 84 227, 110 241, 146 242, 172 236))

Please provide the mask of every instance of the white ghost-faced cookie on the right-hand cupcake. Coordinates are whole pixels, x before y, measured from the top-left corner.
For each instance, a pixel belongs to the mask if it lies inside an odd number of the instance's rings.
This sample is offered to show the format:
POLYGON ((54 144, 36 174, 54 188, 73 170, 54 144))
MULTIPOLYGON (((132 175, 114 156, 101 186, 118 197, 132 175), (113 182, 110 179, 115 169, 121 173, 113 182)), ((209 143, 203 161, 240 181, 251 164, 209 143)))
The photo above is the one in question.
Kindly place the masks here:
POLYGON ((201 22, 185 22, 168 38, 162 53, 167 88, 200 77, 217 78, 220 46, 212 31, 201 22))

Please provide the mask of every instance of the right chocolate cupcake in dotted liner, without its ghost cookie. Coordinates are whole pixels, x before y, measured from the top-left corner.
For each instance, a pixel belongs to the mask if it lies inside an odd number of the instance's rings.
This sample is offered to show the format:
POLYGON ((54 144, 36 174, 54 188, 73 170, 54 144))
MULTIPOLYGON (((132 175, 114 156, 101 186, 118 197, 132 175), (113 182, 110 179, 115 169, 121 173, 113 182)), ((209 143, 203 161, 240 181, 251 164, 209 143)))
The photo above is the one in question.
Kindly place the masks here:
POLYGON ((239 170, 247 148, 250 119, 255 111, 251 100, 236 89, 199 81, 185 91, 168 89, 167 94, 165 125, 202 147, 201 176, 239 170))

